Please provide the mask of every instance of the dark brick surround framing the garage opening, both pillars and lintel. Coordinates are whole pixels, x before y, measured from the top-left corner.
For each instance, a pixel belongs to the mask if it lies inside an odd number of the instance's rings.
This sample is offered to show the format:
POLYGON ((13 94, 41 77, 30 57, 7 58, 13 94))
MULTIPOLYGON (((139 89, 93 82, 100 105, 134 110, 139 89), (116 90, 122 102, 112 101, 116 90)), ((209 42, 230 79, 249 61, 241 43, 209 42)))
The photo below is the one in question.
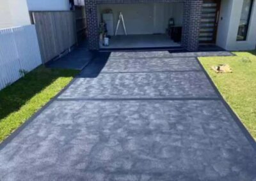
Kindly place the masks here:
POLYGON ((97 4, 135 4, 135 3, 184 3, 182 22, 182 47, 193 51, 198 49, 200 18, 203 0, 84 0, 88 24, 88 47, 99 49, 99 24, 97 4))

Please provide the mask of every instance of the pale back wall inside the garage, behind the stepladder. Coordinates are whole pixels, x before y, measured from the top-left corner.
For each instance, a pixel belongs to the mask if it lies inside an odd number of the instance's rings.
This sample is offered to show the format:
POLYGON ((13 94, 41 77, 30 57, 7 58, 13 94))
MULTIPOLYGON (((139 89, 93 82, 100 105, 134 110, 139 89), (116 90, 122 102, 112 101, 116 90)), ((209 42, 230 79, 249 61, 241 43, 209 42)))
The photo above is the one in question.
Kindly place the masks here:
MULTIPOLYGON (((100 4, 99 21, 104 10, 109 9, 113 11, 114 29, 122 11, 127 34, 165 33, 169 18, 174 18, 177 25, 182 25, 183 3, 100 4)), ((124 34, 122 25, 118 34, 124 34)))

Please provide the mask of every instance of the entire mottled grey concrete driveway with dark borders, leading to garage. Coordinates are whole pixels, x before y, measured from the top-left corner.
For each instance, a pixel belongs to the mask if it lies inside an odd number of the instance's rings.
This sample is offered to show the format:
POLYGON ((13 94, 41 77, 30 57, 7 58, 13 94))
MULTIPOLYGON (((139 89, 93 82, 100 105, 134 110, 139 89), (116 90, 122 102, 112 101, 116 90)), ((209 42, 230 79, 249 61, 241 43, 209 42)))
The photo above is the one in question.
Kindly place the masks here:
POLYGON ((0 146, 0 180, 256 180, 255 142, 199 55, 99 54, 0 146))

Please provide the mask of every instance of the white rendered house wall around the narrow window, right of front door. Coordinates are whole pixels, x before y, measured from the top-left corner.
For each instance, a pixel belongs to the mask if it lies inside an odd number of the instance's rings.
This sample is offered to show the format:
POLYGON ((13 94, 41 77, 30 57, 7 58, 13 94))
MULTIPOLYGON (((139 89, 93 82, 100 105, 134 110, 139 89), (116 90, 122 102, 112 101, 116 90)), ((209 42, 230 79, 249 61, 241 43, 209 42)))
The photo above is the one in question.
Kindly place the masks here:
POLYGON ((253 50, 256 47, 256 3, 253 3, 252 15, 246 41, 236 41, 243 1, 222 0, 216 44, 226 50, 253 50))

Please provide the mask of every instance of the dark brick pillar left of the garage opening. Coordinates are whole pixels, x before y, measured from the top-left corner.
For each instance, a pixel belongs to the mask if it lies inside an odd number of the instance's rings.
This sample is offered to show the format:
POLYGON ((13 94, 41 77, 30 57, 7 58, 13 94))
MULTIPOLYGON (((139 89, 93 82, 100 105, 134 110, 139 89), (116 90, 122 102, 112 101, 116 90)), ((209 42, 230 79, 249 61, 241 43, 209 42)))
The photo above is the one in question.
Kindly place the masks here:
POLYGON ((85 0, 86 21, 88 24, 88 48, 90 50, 99 49, 99 23, 97 15, 97 3, 85 0))

